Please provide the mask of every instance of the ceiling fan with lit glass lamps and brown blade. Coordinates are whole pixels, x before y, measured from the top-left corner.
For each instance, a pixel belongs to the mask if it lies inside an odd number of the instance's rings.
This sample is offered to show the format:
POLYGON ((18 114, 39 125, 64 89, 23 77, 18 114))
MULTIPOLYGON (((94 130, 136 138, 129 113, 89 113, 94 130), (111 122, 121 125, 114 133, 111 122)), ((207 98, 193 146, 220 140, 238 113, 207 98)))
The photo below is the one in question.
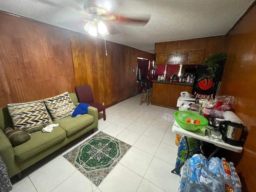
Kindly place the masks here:
POLYGON ((150 17, 146 19, 134 19, 121 16, 120 14, 107 13, 106 9, 98 6, 95 0, 86 0, 84 2, 84 10, 81 10, 80 12, 90 16, 90 18, 83 20, 87 22, 84 26, 84 30, 92 36, 97 36, 98 33, 102 36, 109 34, 108 29, 104 24, 106 20, 114 22, 139 23, 143 25, 147 24, 150 20, 150 17))

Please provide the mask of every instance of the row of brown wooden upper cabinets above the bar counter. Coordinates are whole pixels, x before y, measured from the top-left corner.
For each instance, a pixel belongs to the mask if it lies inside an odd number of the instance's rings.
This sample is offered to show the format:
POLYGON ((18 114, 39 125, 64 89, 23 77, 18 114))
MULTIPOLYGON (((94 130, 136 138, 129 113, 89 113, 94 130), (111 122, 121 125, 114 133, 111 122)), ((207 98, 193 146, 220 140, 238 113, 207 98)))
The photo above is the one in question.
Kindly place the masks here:
POLYGON ((169 52, 156 54, 156 64, 201 65, 204 51, 169 52))

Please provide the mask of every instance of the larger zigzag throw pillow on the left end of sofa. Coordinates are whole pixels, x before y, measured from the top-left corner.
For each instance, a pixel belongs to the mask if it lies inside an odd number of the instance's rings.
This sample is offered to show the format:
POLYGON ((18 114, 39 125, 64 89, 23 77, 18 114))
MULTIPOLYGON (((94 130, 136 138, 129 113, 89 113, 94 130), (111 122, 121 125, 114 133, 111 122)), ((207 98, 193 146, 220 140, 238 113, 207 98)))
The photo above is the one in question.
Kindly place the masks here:
POLYGON ((43 101, 7 104, 14 129, 32 130, 52 123, 43 101))

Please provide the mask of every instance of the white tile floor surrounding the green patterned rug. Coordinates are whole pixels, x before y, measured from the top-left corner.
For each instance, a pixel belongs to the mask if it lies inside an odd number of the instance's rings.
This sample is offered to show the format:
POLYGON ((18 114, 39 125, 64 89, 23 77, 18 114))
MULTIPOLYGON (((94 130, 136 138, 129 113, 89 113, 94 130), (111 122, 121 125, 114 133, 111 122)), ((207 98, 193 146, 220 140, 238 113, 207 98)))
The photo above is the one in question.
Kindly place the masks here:
POLYGON ((132 147, 98 188, 63 155, 92 137, 72 142, 22 172, 12 192, 177 192, 180 177, 172 174, 177 155, 172 132, 176 110, 140 105, 141 94, 106 109, 99 131, 132 147))

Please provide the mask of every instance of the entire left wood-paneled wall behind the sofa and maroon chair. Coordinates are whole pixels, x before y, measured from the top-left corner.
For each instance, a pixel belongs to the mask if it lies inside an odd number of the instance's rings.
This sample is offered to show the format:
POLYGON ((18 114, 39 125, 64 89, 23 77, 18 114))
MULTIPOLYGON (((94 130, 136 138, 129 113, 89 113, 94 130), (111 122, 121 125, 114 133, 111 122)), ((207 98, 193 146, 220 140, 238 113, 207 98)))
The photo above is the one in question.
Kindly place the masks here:
POLYGON ((154 54, 0 12, 0 106, 74 92, 90 84, 111 105, 140 93, 137 57, 154 54), (133 72, 134 69, 134 72, 133 72))

